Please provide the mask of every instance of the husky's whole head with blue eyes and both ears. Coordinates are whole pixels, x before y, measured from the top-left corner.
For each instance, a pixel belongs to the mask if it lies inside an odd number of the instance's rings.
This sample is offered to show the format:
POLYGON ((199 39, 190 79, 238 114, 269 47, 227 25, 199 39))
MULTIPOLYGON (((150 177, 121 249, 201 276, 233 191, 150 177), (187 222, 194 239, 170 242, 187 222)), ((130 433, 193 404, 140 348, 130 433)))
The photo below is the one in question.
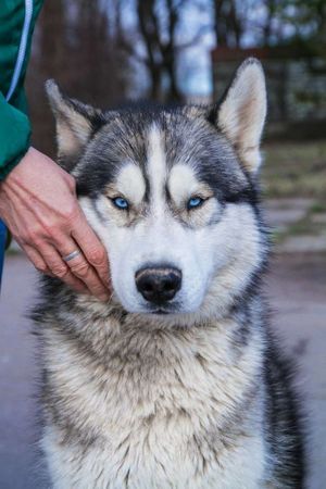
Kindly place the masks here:
POLYGON ((255 212, 266 112, 261 65, 239 68, 220 106, 101 113, 48 84, 59 156, 104 243, 128 312, 211 314, 263 260, 255 212))

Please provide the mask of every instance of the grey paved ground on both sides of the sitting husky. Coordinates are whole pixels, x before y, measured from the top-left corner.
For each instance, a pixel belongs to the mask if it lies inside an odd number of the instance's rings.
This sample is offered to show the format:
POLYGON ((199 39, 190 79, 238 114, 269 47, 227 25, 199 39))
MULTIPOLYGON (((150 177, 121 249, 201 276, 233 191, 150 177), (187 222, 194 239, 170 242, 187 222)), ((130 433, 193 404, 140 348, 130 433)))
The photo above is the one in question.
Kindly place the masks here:
MULTIPOLYGON (((273 324, 301 364, 300 384, 311 419, 309 489, 326 482, 326 255, 277 256, 266 279, 273 324)), ((7 260, 0 303, 0 489, 45 489, 33 467, 37 367, 24 313, 33 302, 35 274, 22 256, 7 260)), ((38 471, 39 472, 39 471, 38 471)), ((91 488, 90 488, 91 489, 91 488)))

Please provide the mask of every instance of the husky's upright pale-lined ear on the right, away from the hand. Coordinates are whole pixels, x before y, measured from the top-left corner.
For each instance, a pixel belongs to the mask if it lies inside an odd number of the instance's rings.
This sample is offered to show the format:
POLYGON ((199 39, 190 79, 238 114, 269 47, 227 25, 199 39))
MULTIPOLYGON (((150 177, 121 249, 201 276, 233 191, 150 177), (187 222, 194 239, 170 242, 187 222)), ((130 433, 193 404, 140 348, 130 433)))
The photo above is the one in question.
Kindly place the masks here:
POLYGON ((215 113, 215 124, 235 147, 241 163, 255 173, 261 163, 260 140, 266 117, 265 76, 254 58, 246 60, 215 113))

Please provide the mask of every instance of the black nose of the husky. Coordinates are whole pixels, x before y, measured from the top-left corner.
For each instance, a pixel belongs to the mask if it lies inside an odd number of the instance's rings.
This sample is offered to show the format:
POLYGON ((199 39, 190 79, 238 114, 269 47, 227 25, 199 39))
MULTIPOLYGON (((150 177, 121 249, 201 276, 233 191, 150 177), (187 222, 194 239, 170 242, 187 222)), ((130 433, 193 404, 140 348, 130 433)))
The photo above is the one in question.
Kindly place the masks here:
POLYGON ((181 287, 181 272, 173 267, 148 267, 136 273, 136 286, 141 296, 154 304, 171 301, 181 287))

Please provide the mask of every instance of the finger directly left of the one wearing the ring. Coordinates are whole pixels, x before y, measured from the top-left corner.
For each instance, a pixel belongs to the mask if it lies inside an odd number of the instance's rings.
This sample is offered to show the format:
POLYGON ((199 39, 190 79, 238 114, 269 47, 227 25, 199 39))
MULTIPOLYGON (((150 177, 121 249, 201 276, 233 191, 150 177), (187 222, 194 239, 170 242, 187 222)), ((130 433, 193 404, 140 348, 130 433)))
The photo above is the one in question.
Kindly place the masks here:
POLYGON ((72 274, 55 248, 53 248, 51 244, 46 243, 41 248, 39 248, 39 253, 41 254, 50 272, 57 278, 60 278, 77 292, 90 293, 90 290, 88 290, 83 280, 79 280, 79 278, 72 274))

